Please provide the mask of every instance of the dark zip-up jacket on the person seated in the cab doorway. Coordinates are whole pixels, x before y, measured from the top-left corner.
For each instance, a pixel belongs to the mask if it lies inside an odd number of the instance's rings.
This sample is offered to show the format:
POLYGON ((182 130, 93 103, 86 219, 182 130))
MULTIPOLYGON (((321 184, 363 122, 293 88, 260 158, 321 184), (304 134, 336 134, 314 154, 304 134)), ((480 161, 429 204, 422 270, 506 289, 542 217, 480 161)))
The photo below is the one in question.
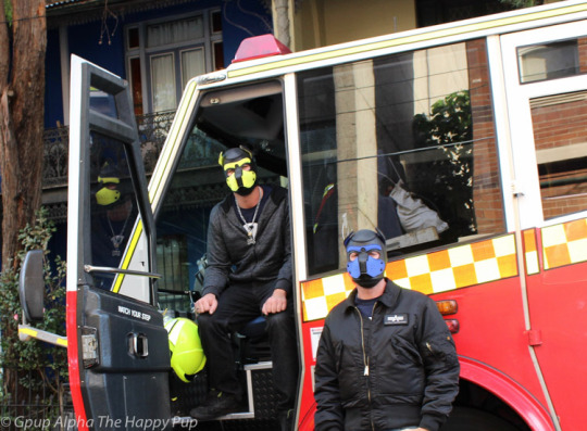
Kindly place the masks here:
MULTIPOLYGON (((268 187, 263 187, 267 192, 268 187)), ((217 296, 232 283, 266 283, 291 294, 291 245, 287 190, 271 188, 259 214, 255 243, 247 243, 242 220, 235 212, 230 193, 210 213, 208 226, 208 268, 202 294, 217 296)))

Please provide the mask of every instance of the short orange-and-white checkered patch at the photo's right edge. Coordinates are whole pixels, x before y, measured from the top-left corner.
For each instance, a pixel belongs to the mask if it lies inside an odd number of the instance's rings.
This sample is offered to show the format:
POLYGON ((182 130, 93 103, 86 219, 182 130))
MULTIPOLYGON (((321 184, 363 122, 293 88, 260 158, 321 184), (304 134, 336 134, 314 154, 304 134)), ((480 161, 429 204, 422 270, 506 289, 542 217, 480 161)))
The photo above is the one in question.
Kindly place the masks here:
POLYGON ((542 228, 545 269, 587 261, 587 219, 542 228))

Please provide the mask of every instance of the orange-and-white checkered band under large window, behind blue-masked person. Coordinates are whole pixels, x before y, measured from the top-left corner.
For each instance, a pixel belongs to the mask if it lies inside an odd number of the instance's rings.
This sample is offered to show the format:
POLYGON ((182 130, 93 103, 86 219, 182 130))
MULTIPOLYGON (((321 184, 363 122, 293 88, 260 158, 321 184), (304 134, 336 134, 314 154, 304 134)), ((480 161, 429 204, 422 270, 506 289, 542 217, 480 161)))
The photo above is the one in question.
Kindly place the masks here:
MULTIPOLYGON (((394 261, 386 274, 405 289, 430 294, 517 275, 513 234, 394 261)), ((326 317, 353 289, 347 274, 302 283, 304 321, 326 317)))

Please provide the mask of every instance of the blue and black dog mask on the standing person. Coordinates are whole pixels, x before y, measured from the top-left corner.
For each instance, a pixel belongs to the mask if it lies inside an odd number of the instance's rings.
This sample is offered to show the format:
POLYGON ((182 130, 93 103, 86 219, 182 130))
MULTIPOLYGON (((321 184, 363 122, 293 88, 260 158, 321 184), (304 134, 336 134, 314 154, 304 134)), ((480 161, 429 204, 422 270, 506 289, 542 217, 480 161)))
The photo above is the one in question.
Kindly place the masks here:
POLYGON ((384 278, 387 253, 385 237, 380 232, 362 229, 351 232, 345 240, 347 248, 347 271, 357 284, 362 288, 373 288, 384 278), (373 257, 373 251, 379 253, 379 258, 373 257), (354 257, 351 259, 351 256, 354 257))

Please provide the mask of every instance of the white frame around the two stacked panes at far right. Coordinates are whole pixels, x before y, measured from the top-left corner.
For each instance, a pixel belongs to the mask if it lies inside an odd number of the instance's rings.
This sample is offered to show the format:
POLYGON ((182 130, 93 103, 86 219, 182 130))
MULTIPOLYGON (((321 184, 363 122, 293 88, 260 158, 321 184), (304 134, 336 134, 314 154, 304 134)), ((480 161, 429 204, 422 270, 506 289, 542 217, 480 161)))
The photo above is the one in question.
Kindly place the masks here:
MULTIPOLYGON (((530 112, 533 99, 564 93, 572 94, 586 90, 585 74, 521 84, 517 55, 520 47, 550 43, 585 35, 584 26, 585 22, 579 21, 548 28, 529 29, 503 35, 499 41, 495 40, 495 43, 491 43, 494 55, 501 55, 503 59, 502 68, 492 71, 492 74, 497 76, 495 81, 501 81, 503 86, 501 90, 496 88, 495 91, 501 91, 503 94, 502 103, 507 103, 508 106, 503 113, 508 116, 509 123, 515 125, 508 130, 505 122, 498 124, 498 142, 501 142, 502 163, 509 161, 512 166, 511 169, 503 172, 503 189, 512 190, 513 198, 505 199, 505 203, 513 205, 513 201, 516 201, 516 212, 508 212, 511 214, 508 219, 509 230, 553 226, 585 217, 585 211, 545 217, 530 112), (503 78, 500 78, 501 74, 503 74, 503 78), (516 215, 514 216, 514 214, 516 215)), ((503 110, 503 104, 500 109, 503 110)), ((496 115, 498 114, 496 113, 496 115)))

